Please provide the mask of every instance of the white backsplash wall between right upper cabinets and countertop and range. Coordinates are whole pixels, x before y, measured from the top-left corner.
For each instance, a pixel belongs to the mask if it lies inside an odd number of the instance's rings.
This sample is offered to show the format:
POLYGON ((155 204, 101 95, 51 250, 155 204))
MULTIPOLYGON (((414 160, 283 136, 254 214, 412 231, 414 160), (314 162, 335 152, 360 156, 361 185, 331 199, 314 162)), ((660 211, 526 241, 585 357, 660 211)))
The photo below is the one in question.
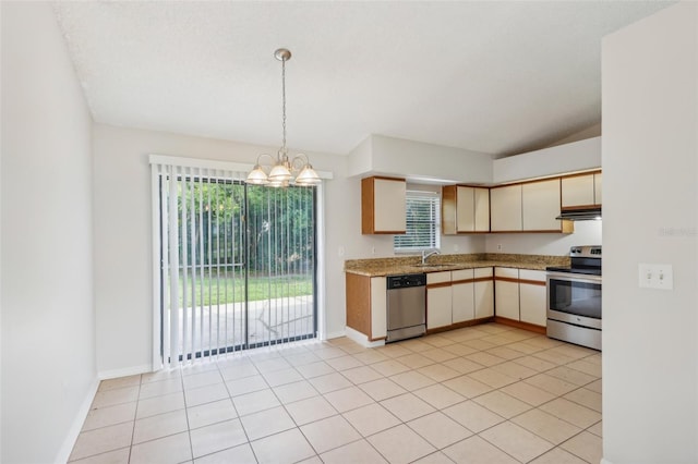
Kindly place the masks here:
POLYGON ((575 232, 562 233, 492 233, 486 235, 486 253, 513 253, 521 255, 569 254, 575 245, 601 245, 603 221, 576 221, 575 232), (498 249, 502 245, 502 249, 498 249))

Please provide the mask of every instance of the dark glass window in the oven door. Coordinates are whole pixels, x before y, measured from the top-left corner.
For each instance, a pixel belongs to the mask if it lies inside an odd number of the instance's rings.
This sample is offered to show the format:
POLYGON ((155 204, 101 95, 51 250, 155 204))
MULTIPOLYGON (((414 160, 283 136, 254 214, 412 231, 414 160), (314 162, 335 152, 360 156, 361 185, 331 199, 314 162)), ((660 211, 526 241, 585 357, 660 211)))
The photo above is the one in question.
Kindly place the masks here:
POLYGON ((601 319, 601 283, 550 279, 549 308, 601 319))

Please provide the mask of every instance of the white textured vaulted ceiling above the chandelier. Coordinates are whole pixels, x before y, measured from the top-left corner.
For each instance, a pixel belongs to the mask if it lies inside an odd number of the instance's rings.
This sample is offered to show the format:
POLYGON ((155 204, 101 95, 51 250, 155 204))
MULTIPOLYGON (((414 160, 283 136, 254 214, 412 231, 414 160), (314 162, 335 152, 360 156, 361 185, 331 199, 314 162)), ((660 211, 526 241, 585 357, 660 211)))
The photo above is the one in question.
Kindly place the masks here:
POLYGON ((97 122, 347 154, 507 155, 601 120, 601 38, 666 2, 58 2, 97 122))

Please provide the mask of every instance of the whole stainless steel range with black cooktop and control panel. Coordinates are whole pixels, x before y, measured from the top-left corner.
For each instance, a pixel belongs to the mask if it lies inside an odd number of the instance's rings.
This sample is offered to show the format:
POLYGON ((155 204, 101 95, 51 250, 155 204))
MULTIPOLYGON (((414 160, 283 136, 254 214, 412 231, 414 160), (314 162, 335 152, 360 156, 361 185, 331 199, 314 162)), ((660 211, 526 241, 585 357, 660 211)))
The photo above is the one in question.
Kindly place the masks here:
POLYGON ((573 246, 570 267, 549 267, 547 337, 601 350, 601 246, 573 246))

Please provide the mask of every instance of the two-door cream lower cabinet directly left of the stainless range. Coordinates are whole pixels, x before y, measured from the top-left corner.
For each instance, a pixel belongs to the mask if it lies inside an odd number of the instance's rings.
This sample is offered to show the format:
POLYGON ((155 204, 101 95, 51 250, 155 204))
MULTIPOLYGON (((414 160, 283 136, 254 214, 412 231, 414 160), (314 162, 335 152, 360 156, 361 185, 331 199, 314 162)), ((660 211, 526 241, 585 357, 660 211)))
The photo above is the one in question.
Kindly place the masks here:
POLYGON ((495 268, 496 316, 545 327, 545 272, 495 268))

